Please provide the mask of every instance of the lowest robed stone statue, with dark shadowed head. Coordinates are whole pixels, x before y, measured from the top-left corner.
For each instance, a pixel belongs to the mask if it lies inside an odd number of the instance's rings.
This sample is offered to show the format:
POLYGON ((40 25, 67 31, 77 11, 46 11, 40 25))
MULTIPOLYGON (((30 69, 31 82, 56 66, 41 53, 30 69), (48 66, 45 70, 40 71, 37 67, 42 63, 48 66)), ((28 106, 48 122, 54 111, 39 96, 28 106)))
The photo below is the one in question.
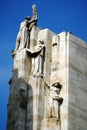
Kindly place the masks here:
POLYGON ((54 83, 50 88, 50 118, 57 118, 60 121, 60 105, 63 99, 59 97, 60 85, 54 83))

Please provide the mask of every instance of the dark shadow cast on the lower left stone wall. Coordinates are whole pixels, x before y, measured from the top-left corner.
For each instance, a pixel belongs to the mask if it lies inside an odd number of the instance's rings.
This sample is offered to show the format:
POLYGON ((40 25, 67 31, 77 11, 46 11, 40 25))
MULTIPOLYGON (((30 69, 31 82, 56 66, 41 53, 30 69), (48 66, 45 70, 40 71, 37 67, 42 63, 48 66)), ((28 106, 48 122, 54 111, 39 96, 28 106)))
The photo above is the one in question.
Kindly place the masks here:
POLYGON ((20 130, 20 129, 26 130, 27 127, 26 120, 28 114, 27 113, 28 91, 31 90, 31 88, 23 79, 23 77, 20 78, 18 77, 17 69, 13 70, 13 75, 9 81, 9 85, 10 85, 10 92, 9 92, 10 95, 7 105, 8 107, 7 130, 20 130))

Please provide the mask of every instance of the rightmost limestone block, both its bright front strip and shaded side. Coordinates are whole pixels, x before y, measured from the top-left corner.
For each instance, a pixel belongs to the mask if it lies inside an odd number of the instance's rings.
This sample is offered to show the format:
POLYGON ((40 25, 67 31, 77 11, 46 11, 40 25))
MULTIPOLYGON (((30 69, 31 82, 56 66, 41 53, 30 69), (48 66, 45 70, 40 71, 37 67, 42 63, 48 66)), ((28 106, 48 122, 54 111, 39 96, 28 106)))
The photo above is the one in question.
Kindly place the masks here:
POLYGON ((71 33, 59 34, 58 77, 62 84, 60 95, 61 129, 87 129, 87 44, 71 33))

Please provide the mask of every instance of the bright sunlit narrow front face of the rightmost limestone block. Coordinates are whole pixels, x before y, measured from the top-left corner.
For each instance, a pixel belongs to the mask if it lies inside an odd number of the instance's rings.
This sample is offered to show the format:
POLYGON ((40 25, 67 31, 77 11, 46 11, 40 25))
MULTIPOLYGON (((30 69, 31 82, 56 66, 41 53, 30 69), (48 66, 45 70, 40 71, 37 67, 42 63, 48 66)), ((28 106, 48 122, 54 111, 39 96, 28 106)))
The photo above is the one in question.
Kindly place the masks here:
POLYGON ((62 84, 60 96, 63 103, 60 109, 61 130, 68 130, 68 33, 59 34, 59 65, 58 77, 62 84))

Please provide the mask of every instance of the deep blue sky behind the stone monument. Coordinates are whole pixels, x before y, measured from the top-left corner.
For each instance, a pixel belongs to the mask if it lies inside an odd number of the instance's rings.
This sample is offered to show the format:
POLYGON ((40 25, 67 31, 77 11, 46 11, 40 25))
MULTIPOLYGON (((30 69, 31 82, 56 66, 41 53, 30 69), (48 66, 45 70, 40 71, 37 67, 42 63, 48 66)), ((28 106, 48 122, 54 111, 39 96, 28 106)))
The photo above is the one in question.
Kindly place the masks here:
POLYGON ((87 0, 0 0, 0 130, 6 130, 8 81, 20 22, 32 17, 37 5, 38 26, 55 33, 69 31, 87 42, 87 0))

